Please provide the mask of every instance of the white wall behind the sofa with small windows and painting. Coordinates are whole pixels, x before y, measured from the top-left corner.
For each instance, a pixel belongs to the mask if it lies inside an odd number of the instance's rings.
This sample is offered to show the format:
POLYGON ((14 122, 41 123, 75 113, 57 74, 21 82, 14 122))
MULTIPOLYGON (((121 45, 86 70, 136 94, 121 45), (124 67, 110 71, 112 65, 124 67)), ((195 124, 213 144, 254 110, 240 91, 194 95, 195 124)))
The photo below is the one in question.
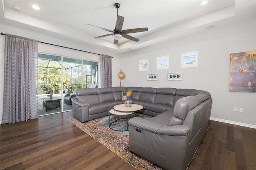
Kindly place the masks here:
POLYGON ((230 53, 252 50, 256 50, 255 20, 207 30, 120 55, 126 74, 122 85, 206 90, 213 98, 212 120, 256 128, 256 93, 229 91, 230 53), (199 66, 180 68, 180 53, 190 51, 199 51, 199 66), (156 57, 164 55, 170 55, 170 69, 156 70, 156 57), (138 71, 141 59, 149 59, 149 71, 138 71), (167 73, 180 72, 182 81, 167 80, 167 73), (146 74, 158 74, 158 81, 147 81, 146 74), (244 112, 234 112, 234 107, 244 112))

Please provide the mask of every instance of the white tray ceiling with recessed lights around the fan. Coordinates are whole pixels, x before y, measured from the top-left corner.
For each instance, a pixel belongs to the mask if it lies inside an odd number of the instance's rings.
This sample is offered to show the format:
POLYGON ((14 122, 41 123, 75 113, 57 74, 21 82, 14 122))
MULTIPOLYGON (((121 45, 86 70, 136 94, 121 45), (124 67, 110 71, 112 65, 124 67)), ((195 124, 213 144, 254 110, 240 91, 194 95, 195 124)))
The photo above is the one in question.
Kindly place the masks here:
MULTIPOLYGON (((139 49, 182 36, 216 29, 256 18, 256 0, 1 0, 1 24, 70 40, 83 45, 108 49, 114 53, 139 49), (113 44, 112 36, 90 38, 110 32, 89 26, 92 24, 114 30, 116 8, 124 17, 122 30, 148 27, 148 32, 129 34, 113 44), (31 6, 37 4, 40 10, 31 6), (14 6, 20 10, 14 10, 14 6)), ((6 32, 8 33, 8 32, 6 32)))

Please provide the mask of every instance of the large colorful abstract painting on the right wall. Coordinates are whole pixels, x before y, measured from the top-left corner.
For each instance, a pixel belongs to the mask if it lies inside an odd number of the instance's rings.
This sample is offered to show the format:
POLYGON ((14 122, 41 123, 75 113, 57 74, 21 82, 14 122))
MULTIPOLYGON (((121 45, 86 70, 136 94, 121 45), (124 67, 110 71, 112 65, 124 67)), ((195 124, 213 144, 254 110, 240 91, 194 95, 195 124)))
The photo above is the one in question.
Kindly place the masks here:
POLYGON ((256 50, 230 54, 229 91, 256 92, 256 50))

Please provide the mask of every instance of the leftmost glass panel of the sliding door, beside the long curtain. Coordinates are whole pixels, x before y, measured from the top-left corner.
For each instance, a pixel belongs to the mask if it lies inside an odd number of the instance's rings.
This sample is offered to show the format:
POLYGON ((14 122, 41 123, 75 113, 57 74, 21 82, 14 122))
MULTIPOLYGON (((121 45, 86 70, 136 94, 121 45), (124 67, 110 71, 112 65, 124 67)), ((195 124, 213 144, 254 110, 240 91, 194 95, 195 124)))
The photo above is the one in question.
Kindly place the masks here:
POLYGON ((62 111, 61 57, 38 54, 38 115, 62 111))

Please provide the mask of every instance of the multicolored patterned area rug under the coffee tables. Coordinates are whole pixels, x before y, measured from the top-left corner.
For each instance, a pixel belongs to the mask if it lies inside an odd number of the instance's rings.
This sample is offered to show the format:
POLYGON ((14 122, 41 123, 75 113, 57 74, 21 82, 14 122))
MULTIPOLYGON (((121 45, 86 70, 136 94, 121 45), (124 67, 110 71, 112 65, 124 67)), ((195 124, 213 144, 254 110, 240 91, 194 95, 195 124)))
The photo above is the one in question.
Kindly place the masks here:
MULTIPOLYGON (((149 116, 142 114, 138 114, 138 117, 149 118, 149 116)), ((118 132, 111 130, 109 128, 109 116, 86 123, 81 123, 76 118, 68 118, 68 121, 98 140, 138 170, 162 170, 159 166, 129 151, 129 131, 118 132)), ((113 127, 111 126, 111 128, 120 128, 124 123, 124 121, 120 121, 116 125, 112 124, 113 127)))

